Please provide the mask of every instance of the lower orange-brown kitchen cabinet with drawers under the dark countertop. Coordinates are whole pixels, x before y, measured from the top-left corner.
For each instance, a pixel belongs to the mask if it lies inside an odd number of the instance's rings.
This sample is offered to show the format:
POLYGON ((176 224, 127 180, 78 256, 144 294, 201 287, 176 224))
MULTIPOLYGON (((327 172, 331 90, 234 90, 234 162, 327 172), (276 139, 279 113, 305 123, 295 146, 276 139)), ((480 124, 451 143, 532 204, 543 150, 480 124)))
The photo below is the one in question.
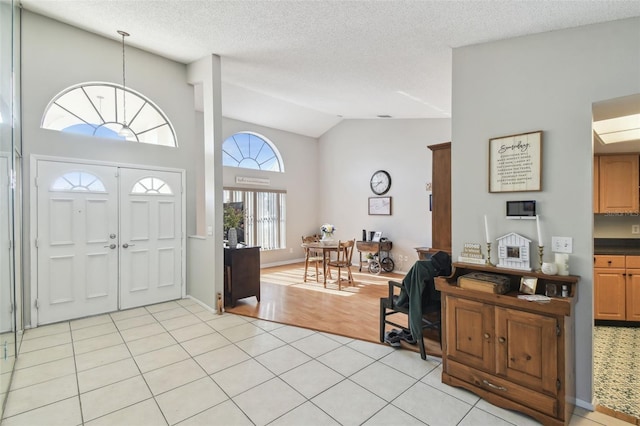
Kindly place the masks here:
POLYGON ((640 256, 595 255, 594 318, 640 321, 640 256))

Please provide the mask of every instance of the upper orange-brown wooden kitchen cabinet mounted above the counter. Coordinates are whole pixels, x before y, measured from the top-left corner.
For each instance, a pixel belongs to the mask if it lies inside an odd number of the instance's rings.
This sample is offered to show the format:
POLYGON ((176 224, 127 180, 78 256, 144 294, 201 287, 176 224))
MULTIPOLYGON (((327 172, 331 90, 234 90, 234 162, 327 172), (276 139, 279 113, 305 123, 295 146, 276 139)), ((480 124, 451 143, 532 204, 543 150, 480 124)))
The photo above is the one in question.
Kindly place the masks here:
POLYGON ((598 209, 595 213, 639 212, 640 156, 599 155, 595 158, 598 161, 598 188, 597 194, 594 193, 594 197, 598 197, 598 209))

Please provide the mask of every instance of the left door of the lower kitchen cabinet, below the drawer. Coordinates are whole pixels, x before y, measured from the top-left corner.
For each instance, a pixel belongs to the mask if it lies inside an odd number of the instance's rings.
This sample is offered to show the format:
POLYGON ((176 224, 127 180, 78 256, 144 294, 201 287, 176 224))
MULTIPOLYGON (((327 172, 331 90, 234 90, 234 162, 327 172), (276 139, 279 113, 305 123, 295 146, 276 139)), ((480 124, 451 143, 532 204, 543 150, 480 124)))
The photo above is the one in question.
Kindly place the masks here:
POLYGON ((594 269, 593 300, 595 319, 624 321, 625 270, 594 269))

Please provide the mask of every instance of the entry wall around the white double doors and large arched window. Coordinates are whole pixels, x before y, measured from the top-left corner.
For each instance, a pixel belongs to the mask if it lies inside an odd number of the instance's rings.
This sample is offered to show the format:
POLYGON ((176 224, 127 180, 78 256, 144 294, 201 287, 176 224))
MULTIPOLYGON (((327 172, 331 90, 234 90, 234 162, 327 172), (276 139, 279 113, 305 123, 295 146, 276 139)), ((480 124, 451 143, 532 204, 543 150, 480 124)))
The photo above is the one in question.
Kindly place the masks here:
MULTIPOLYGON (((72 157, 111 163, 142 164, 187 171, 187 235, 195 231, 196 161, 202 155, 202 136, 196 133, 193 87, 187 84, 186 66, 127 47, 127 86, 142 93, 164 111, 173 124, 179 148, 149 144, 123 144, 106 139, 40 128, 49 101, 81 82, 122 82, 122 47, 117 40, 62 24, 28 11, 22 13, 22 119, 24 142, 24 259, 25 304, 30 302, 29 251, 33 245, 29 169, 32 155, 72 157)), ((117 38, 114 30, 114 39, 117 38)), ((135 38, 132 34, 131 38, 135 38)), ((30 308, 25 308, 29 315, 30 308)), ((29 318, 26 321, 29 324, 29 318)))

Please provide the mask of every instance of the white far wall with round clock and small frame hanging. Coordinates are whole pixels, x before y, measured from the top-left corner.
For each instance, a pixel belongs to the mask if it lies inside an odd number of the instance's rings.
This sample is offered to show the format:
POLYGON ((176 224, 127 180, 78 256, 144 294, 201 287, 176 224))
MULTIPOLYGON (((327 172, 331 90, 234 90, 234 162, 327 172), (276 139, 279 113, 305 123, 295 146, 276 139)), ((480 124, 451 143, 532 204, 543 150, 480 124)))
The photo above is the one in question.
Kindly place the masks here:
MULTIPOLYGON (((393 242, 396 269, 417 260, 415 247, 431 244, 429 145, 451 140, 450 119, 345 120, 320 137, 317 228, 336 226, 336 238, 360 240, 362 230, 382 231, 393 242), (371 175, 391 174, 391 216, 369 216, 371 175), (406 257, 406 260, 405 260, 406 257)), ((357 253, 354 254, 354 258, 357 253)))

